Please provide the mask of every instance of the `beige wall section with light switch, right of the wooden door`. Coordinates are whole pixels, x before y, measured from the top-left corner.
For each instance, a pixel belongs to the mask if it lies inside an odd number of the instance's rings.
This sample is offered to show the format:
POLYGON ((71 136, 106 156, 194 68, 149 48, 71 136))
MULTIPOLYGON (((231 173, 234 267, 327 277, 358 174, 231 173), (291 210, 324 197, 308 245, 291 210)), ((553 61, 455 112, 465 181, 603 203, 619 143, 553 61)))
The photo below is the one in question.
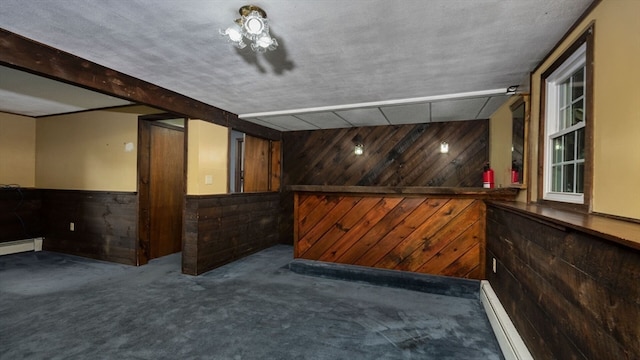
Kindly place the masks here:
POLYGON ((190 119, 187 131, 187 194, 226 194, 229 129, 190 119))

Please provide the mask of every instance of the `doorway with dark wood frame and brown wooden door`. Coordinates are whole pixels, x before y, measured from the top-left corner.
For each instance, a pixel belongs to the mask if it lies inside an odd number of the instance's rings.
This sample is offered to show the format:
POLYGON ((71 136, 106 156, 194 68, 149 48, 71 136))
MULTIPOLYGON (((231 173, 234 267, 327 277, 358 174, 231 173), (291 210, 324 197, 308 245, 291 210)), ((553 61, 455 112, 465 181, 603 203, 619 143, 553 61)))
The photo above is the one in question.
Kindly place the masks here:
POLYGON ((185 119, 138 121, 138 265, 182 250, 185 119))

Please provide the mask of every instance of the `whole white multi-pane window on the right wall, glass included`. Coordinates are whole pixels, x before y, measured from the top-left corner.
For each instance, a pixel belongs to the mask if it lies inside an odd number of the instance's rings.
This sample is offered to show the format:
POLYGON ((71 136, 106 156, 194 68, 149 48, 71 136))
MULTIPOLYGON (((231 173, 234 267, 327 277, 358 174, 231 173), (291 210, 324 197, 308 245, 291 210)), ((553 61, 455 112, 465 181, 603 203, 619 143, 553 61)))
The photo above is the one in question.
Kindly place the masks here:
POLYGON ((584 204, 587 43, 546 77, 545 200, 584 204))

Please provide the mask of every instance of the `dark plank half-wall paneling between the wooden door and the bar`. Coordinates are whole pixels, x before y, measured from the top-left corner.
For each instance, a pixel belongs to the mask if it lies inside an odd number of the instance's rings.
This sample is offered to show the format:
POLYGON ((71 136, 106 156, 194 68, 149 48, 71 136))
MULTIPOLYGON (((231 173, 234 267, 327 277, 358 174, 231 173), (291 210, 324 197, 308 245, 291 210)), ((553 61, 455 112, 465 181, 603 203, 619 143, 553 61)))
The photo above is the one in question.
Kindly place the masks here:
POLYGON ((182 272, 198 275, 278 243, 280 193, 187 196, 182 272))

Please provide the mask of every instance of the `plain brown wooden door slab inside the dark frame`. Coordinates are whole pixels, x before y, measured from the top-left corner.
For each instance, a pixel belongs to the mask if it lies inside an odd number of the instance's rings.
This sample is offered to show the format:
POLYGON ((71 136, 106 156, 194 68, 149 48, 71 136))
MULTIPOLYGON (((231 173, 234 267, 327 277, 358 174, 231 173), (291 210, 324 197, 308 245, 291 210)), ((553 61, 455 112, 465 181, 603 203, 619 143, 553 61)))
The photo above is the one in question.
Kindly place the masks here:
POLYGON ((182 249, 184 132, 149 127, 149 259, 182 249))

